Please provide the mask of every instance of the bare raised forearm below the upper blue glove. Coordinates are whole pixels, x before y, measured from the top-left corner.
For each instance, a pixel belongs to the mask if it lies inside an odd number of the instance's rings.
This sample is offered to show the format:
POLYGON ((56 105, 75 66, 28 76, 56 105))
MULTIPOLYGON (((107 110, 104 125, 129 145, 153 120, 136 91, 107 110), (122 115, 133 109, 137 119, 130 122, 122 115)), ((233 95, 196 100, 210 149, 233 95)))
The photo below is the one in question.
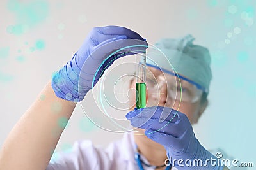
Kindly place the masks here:
POLYGON ((0 169, 45 169, 75 106, 56 97, 47 83, 4 142, 0 169))

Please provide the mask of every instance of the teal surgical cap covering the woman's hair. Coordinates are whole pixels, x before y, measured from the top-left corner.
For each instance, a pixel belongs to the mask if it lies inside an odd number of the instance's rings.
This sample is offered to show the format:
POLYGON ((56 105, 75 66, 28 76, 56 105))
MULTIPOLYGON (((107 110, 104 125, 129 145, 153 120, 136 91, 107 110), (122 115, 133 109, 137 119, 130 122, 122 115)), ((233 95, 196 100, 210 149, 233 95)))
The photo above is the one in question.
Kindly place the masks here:
POLYGON ((148 52, 147 65, 161 68, 163 71, 171 71, 172 73, 174 69, 180 76, 184 76, 201 86, 204 92, 209 92, 212 78, 211 56, 207 48, 194 45, 194 39, 191 35, 179 39, 161 39, 155 46, 163 53, 159 51, 157 53, 148 52))

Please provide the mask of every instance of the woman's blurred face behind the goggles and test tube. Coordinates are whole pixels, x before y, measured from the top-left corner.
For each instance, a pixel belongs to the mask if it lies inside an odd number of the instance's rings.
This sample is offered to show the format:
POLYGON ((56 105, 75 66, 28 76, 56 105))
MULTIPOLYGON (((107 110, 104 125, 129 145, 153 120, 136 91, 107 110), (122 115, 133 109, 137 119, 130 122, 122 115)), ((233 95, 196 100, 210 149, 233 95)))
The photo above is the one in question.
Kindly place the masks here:
MULTIPOLYGON (((182 100, 180 101, 179 93, 176 90, 179 90, 179 82, 175 76, 170 74, 163 73, 159 69, 155 69, 153 67, 147 67, 147 107, 150 106, 166 106, 178 110, 187 115, 191 124, 195 124, 198 122, 198 118, 204 111, 205 107, 202 106, 201 96, 196 101, 189 101, 189 97, 195 96, 193 94, 193 89, 191 89, 191 85, 187 81, 181 83, 182 87, 182 100), (153 82, 154 81, 154 82, 153 82), (173 83, 174 82, 174 83, 173 83), (177 83, 178 82, 178 83, 177 83), (172 87, 172 84, 175 87, 172 87), (154 88, 153 86, 157 88, 154 88), (178 89, 177 89, 178 87, 178 89), (175 89, 175 90, 173 90, 175 89), (190 91, 189 91, 190 90, 190 91), (173 92, 173 95, 170 95, 173 92)), ((130 96, 130 106, 132 106, 131 110, 134 110, 136 106, 136 82, 135 79, 131 82, 131 89, 134 91, 134 94, 130 96)))

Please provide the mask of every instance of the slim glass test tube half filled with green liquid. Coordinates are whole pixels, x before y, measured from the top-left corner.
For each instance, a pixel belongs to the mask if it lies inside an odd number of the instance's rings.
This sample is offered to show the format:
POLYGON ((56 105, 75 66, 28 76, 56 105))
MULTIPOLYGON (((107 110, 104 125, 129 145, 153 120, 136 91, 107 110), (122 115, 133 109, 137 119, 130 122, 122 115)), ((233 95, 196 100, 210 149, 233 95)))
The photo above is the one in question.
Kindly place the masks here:
POLYGON ((136 108, 146 107, 146 53, 136 54, 136 108))

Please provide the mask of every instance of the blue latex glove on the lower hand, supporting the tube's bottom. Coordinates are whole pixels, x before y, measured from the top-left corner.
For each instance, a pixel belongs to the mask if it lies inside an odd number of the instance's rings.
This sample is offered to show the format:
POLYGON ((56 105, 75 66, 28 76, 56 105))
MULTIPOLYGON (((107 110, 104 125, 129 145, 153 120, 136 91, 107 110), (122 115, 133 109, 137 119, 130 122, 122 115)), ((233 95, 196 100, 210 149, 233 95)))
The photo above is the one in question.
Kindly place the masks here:
POLYGON ((154 106, 135 109, 127 113, 126 118, 131 121, 132 126, 146 129, 145 135, 148 138, 163 145, 170 162, 176 160, 173 166, 177 169, 223 169, 222 166, 211 166, 211 158, 217 158, 200 145, 185 114, 172 108, 154 106), (183 160, 180 164, 177 162, 179 159, 183 160), (189 162, 185 164, 188 159, 192 166, 188 166, 189 162), (209 161, 207 166, 193 166, 195 159, 202 160, 203 165, 207 159, 209 161))

